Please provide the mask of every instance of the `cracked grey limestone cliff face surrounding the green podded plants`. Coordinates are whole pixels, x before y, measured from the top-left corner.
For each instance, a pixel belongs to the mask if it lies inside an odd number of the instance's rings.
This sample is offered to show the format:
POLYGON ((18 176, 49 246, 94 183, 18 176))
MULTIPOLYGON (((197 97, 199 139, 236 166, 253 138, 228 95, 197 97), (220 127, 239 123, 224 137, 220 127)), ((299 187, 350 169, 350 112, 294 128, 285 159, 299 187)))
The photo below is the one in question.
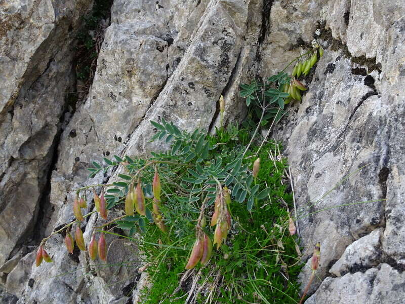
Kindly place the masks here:
MULTIPOLYGON (((0 298, 131 302, 139 280, 131 244, 107 240, 111 265, 97 270, 85 255, 69 256, 63 236, 48 242, 55 262, 41 268, 25 245, 73 219, 74 189, 116 174, 87 180, 91 162, 161 148, 148 142, 150 120, 211 131, 222 94, 226 122, 240 121, 238 85, 278 71, 317 39, 326 51, 309 90, 274 132, 285 142, 303 245, 321 243, 307 303, 405 300, 404 4, 114 0, 92 87, 73 111, 73 42, 91 7, 0 1, 0 298), (355 204, 364 201, 374 202, 355 204)), ((93 214, 85 238, 101 222, 93 214)))

